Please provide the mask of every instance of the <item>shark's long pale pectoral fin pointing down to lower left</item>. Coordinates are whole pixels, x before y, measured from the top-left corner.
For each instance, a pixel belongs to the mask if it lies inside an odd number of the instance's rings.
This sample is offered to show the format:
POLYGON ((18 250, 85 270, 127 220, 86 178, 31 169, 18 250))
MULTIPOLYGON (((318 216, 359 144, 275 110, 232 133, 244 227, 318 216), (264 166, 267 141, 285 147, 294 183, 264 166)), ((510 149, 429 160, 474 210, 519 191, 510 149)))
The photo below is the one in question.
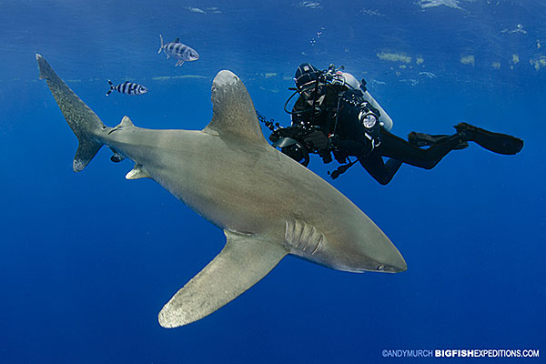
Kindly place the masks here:
POLYGON ((159 312, 164 328, 177 328, 216 311, 264 278, 288 254, 277 241, 225 233, 227 243, 217 257, 159 312))

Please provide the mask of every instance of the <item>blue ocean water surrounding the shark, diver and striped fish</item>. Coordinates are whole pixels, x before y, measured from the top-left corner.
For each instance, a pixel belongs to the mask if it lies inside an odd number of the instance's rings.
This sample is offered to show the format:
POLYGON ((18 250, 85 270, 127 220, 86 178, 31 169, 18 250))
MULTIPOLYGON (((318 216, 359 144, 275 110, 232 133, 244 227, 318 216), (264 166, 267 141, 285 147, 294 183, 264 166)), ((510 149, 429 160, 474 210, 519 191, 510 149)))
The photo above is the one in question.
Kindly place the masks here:
MULTIPOLYGON (((546 3, 0 1, 0 362, 469 362, 397 349, 540 349, 546 356, 546 3), (180 67, 159 34, 200 54, 180 67), (72 171, 66 126, 35 53, 107 126, 201 129, 230 69, 257 109, 283 105, 302 62, 368 81, 405 137, 460 121, 519 136, 517 156, 471 145, 380 186, 332 181, 399 248, 408 270, 352 274, 297 258, 226 307, 163 329, 157 312, 223 247, 217 227, 102 150, 72 171), (146 85, 115 93, 107 79, 146 85)), ((267 130, 265 130, 267 132, 267 130)), ((207 158, 204 155, 203 158, 207 158)), ((492 362, 494 359, 490 359, 492 362)), ((496 360, 495 360, 496 362, 496 360)))

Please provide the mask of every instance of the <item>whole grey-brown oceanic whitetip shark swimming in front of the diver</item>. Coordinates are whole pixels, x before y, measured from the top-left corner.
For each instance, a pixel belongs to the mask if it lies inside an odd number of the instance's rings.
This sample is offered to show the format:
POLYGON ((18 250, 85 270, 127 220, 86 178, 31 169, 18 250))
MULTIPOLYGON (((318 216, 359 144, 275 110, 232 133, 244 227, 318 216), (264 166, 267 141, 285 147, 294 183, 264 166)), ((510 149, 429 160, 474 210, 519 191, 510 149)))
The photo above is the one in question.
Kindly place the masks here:
POLYGON ((103 145, 129 158, 127 179, 152 178, 224 230, 226 246, 159 312, 176 328, 237 298, 292 254, 329 268, 400 272, 406 262, 347 197, 268 145, 247 88, 229 71, 212 83, 212 121, 201 131, 136 127, 127 116, 105 126, 43 56, 40 78, 79 140, 79 172, 103 145))

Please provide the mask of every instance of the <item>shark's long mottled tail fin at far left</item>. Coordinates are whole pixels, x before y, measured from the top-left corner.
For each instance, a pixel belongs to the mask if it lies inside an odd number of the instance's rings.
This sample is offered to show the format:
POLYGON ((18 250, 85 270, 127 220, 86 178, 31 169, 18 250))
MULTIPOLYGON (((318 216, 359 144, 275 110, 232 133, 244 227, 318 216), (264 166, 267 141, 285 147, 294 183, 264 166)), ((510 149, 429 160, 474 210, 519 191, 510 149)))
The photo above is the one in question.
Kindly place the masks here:
POLYGON ((106 126, 93 110, 86 106, 86 103, 56 75, 43 56, 36 54, 36 61, 40 68, 40 79, 47 81, 47 86, 65 116, 68 126, 72 128, 79 141, 73 163, 74 171, 79 172, 91 162, 103 146, 98 136, 104 132, 106 126))

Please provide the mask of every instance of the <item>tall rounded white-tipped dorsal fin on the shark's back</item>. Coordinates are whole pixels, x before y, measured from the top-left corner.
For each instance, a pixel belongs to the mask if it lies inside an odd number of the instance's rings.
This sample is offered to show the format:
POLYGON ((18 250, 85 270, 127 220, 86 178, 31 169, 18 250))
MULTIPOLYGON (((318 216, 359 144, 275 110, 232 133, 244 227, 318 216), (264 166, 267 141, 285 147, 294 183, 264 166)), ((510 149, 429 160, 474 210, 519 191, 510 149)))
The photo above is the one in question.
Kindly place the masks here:
POLYGON ((203 131, 215 136, 265 143, 247 87, 230 71, 218 72, 212 82, 212 121, 203 131))

